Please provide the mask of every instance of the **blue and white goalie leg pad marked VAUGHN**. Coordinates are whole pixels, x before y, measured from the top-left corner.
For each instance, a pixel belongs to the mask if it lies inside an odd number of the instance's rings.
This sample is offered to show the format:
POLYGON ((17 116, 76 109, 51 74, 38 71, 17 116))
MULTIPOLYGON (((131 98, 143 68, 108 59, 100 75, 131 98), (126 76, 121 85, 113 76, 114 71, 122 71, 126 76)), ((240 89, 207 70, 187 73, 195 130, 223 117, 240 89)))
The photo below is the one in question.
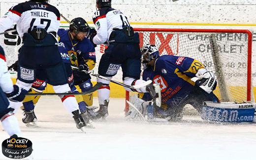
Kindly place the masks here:
POLYGON ((256 123, 255 103, 213 103, 204 102, 201 117, 213 122, 254 122, 256 123))

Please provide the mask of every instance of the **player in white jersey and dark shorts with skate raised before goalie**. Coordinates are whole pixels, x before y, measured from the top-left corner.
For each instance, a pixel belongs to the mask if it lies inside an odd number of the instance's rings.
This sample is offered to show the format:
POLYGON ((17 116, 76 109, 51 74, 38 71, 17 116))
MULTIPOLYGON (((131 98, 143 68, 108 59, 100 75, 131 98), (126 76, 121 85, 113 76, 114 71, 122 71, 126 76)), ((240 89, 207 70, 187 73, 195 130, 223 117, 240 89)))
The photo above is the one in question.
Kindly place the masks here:
MULTIPOLYGON (((127 17, 120 11, 111 8, 111 0, 96 0, 97 11, 94 13, 93 21, 96 30, 90 32, 90 40, 95 45, 107 44, 108 48, 101 56, 98 74, 111 79, 122 67, 123 82, 127 85, 142 84, 140 79, 139 35, 133 31, 127 17)), ((109 103, 109 81, 97 79, 103 85, 98 90, 99 118, 108 116, 109 103)), ((160 89, 156 84, 148 84, 139 89, 138 92, 149 92, 155 104, 160 106, 160 89)), ((130 91, 129 88, 125 88, 130 91)))

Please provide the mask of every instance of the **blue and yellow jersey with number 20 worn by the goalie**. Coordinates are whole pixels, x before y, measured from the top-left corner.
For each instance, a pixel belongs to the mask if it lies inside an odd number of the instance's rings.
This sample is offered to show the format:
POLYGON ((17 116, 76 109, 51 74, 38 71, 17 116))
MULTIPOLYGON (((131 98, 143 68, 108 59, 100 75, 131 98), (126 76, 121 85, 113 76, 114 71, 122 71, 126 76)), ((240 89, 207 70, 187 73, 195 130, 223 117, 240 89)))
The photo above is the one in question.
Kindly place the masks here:
MULTIPOLYGON (((196 59, 174 55, 162 55, 156 59, 154 67, 143 72, 143 80, 152 80, 161 88, 162 104, 179 105, 192 91, 197 71, 205 66, 196 59)), ((145 94, 144 99, 149 95, 145 94)))

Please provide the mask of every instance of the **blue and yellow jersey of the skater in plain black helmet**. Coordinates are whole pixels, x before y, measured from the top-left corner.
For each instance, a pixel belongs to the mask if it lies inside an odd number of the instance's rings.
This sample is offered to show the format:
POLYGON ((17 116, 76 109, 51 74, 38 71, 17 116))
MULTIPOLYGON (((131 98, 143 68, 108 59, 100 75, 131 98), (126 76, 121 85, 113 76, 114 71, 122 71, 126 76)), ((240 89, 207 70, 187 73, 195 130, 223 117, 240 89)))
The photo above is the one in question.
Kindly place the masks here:
POLYGON ((92 70, 96 63, 96 53, 94 45, 84 38, 82 41, 71 40, 68 29, 59 29, 59 43, 64 43, 65 49, 70 57, 72 66, 78 67, 80 64, 87 64, 92 70))

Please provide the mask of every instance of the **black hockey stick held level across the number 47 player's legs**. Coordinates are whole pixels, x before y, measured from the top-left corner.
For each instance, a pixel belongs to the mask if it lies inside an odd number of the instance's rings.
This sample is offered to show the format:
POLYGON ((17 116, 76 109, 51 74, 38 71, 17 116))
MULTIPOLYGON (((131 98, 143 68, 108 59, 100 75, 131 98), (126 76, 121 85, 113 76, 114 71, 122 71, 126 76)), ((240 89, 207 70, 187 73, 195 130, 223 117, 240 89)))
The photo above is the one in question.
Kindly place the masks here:
POLYGON ((80 93, 28 93, 26 94, 27 96, 43 96, 43 95, 49 95, 49 96, 53 96, 53 95, 84 95, 84 94, 90 94, 92 92, 95 92, 96 90, 98 90, 98 88, 102 85, 101 82, 98 82, 97 84, 95 84, 95 86, 93 86, 93 88, 91 88, 90 90, 86 91, 86 92, 80 92, 80 93))

